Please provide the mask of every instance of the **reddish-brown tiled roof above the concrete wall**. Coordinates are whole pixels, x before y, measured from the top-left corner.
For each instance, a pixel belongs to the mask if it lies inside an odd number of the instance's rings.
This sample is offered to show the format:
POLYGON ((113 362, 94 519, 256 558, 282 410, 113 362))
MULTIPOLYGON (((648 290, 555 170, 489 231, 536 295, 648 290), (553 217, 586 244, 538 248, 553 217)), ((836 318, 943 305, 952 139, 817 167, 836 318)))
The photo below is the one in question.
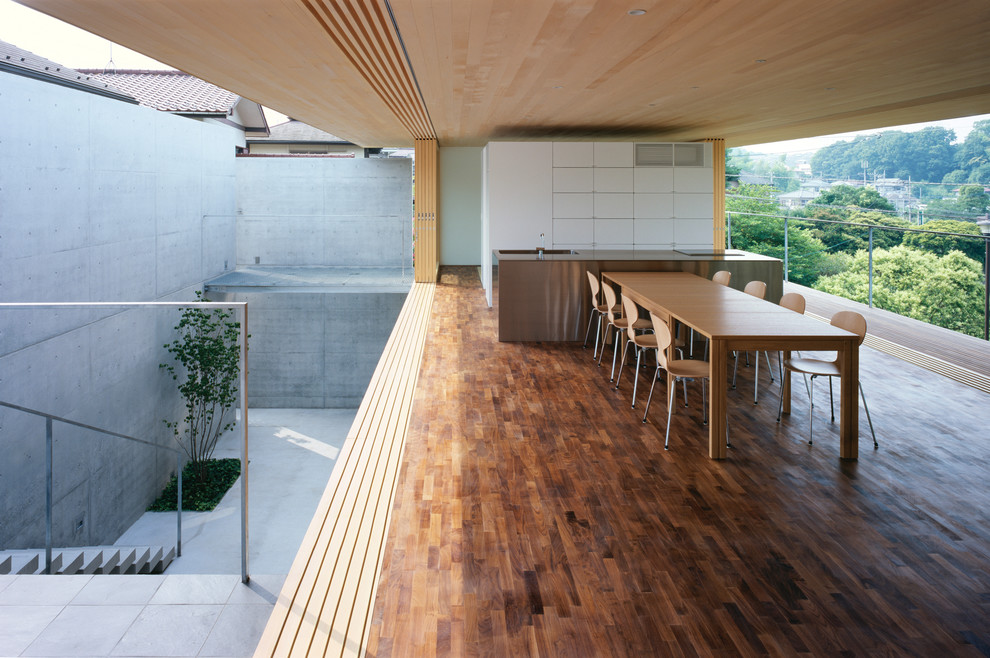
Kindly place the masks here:
POLYGON ((182 71, 81 69, 162 112, 227 114, 239 96, 182 71))

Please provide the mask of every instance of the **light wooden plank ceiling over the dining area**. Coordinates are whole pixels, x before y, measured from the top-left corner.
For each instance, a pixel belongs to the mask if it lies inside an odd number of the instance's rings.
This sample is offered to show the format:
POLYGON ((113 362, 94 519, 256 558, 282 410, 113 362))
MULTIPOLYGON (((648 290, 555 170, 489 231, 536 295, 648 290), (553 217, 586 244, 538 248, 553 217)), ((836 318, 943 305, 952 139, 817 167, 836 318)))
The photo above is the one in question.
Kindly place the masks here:
POLYGON ((18 1, 362 146, 742 146, 990 112, 987 0, 18 1))

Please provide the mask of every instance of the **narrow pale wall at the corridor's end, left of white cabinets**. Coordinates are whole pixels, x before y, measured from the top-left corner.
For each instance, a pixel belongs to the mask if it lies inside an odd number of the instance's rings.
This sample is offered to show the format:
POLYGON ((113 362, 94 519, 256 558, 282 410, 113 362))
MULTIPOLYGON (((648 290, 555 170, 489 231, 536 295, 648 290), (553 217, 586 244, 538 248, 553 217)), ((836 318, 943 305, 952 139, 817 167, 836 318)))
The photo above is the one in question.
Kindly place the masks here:
POLYGON ((482 148, 440 149, 440 264, 478 265, 482 148))

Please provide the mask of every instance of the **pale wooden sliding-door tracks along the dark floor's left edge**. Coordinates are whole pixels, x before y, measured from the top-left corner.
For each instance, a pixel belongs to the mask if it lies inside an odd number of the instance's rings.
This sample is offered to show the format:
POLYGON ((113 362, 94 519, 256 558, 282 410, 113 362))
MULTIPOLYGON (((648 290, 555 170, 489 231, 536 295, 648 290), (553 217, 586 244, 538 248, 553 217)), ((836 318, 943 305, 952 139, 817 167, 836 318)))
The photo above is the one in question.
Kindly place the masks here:
POLYGON ((255 656, 363 652, 435 288, 402 307, 255 656))

